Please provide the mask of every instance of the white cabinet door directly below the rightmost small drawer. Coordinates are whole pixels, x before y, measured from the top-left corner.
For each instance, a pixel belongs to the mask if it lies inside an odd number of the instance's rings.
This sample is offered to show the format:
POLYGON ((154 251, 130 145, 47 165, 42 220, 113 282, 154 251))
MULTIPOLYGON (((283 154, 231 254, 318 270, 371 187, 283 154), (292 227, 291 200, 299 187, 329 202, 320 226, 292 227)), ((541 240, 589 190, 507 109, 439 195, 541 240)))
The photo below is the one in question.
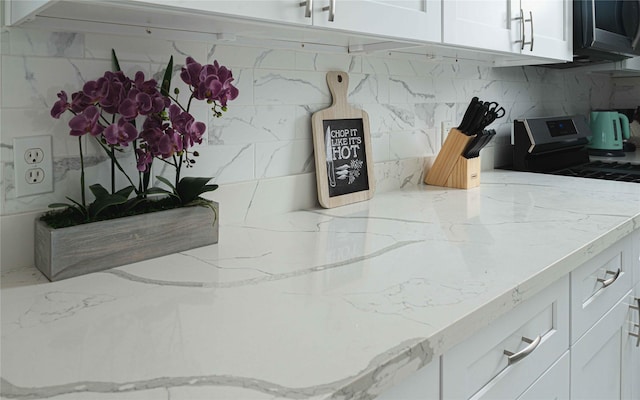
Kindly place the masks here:
MULTIPOLYGON (((627 296, 631 295, 631 291, 627 296)), ((620 300, 571 348, 571 398, 615 400, 623 397, 623 376, 629 374, 627 296, 620 300)))

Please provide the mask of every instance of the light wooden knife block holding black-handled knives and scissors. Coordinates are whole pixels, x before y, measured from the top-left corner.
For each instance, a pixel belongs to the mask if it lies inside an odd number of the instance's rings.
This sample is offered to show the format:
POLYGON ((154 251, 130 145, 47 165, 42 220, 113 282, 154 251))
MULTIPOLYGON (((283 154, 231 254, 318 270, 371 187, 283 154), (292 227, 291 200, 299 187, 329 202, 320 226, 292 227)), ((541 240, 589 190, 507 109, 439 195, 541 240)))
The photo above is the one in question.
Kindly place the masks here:
POLYGON ((480 185, 480 157, 466 159, 464 149, 476 135, 467 136, 453 128, 427 171, 424 183, 458 189, 470 189, 480 185))

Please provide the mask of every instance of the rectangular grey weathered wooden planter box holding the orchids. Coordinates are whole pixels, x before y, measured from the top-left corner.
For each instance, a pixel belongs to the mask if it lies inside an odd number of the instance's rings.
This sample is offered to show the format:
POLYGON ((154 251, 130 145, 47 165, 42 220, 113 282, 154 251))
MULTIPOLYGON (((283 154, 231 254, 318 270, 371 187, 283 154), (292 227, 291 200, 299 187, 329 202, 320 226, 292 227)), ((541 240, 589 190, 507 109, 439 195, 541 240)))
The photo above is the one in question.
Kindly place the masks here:
POLYGON ((50 281, 218 243, 218 203, 53 229, 36 219, 36 267, 50 281), (215 222, 214 222, 215 221, 215 222))

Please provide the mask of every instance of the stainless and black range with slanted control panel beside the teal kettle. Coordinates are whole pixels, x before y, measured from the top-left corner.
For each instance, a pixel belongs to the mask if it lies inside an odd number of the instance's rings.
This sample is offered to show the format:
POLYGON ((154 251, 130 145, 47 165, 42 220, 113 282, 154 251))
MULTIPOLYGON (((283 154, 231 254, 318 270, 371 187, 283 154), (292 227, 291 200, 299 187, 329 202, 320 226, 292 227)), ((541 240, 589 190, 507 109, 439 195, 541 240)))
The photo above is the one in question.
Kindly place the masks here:
POLYGON ((590 160, 585 117, 529 118, 513 123, 513 168, 518 171, 640 183, 640 163, 590 160))

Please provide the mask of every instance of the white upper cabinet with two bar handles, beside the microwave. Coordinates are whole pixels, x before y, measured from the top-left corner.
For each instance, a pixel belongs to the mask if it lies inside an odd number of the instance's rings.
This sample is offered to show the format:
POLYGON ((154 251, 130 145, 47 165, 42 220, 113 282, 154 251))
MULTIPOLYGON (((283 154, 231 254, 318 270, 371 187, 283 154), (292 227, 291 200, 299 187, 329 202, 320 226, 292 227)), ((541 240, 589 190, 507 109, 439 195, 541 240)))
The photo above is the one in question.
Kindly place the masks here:
POLYGON ((443 2, 443 42, 571 61, 572 3, 563 0, 443 2))

